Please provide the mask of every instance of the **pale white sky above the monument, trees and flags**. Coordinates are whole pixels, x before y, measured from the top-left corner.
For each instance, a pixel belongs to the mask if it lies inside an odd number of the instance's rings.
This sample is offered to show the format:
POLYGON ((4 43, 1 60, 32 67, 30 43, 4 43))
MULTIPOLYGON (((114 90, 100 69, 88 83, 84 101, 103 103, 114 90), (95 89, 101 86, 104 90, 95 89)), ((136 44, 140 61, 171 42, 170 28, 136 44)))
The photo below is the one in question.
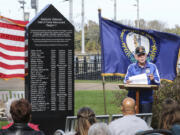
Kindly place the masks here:
MULTIPOLYGON (((23 20, 23 10, 19 0, 0 0, 0 15, 23 20)), ((30 20, 35 16, 35 10, 31 9, 31 0, 25 0, 25 12, 30 13, 30 20)), ((81 24, 81 2, 73 0, 73 21, 76 27, 81 24)), ((137 18, 136 0, 117 0, 117 20, 131 20, 137 18)), ((47 4, 53 4, 61 14, 69 19, 69 2, 64 0, 38 0, 38 12, 47 4)), ((180 0, 139 0, 140 18, 150 21, 158 20, 166 23, 169 28, 180 25, 180 0)), ((98 8, 102 16, 108 19, 114 18, 114 0, 84 0, 85 22, 93 20, 98 22, 98 8)))

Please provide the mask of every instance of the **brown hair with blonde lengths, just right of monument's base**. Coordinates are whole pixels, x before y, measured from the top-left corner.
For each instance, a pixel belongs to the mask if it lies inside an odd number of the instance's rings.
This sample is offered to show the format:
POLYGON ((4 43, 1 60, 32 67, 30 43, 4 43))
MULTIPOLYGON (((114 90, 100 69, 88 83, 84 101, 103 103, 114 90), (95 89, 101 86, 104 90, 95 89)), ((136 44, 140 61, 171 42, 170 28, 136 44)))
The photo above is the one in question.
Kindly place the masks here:
POLYGON ((89 127, 96 122, 94 111, 89 107, 79 109, 77 113, 76 135, 87 135, 89 127))

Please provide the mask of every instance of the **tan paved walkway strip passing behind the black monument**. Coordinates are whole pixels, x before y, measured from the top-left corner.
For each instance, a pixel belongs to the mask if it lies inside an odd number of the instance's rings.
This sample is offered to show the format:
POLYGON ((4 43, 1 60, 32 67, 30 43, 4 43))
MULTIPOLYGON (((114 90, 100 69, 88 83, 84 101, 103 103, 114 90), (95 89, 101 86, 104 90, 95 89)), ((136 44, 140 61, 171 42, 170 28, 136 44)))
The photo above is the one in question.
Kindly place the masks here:
MULTIPOLYGON (((75 83, 75 90, 102 90, 102 83, 75 83)), ((106 90, 119 90, 118 84, 106 83, 106 90)), ((24 90, 24 80, 0 79, 0 90, 24 90)))

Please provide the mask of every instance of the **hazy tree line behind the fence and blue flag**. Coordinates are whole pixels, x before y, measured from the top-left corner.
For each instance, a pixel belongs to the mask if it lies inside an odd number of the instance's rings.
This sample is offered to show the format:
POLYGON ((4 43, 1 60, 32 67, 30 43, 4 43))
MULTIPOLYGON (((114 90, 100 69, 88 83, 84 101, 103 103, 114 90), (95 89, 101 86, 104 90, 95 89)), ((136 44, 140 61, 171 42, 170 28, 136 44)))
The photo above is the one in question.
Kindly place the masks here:
MULTIPOLYGON (((118 21, 121 24, 136 27, 137 21, 131 20, 120 20, 118 21)), ((180 35, 180 26, 175 25, 174 28, 169 28, 165 22, 161 22, 158 20, 145 21, 144 19, 140 19, 140 28, 141 29, 152 29, 161 32, 175 33, 180 35)), ((99 40, 99 24, 96 22, 89 20, 88 23, 84 27, 85 31, 85 51, 88 53, 100 53, 100 40, 99 40)), ((79 53, 81 51, 81 30, 75 31, 75 52, 79 53)))

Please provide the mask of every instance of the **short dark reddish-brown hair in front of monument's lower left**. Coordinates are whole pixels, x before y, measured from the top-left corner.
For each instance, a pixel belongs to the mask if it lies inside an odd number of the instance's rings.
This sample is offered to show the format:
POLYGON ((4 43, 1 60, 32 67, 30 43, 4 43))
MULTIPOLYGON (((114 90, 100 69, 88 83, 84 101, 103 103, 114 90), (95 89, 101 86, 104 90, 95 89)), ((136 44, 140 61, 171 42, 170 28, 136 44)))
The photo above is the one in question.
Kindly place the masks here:
POLYGON ((10 113, 15 123, 28 123, 31 118, 31 105, 25 99, 15 100, 11 104, 10 113))

